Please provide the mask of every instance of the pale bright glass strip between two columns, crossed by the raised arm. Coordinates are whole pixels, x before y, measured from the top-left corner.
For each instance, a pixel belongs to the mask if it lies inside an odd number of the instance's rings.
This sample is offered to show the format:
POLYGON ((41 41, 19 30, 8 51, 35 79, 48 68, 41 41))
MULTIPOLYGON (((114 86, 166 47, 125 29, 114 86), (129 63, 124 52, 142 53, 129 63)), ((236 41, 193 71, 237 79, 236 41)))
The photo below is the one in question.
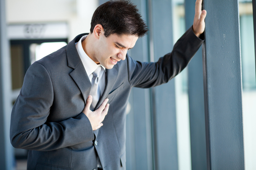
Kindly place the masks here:
MULTIPOLYGON (((173 0, 173 41, 176 42, 185 31, 184 0, 173 0)), ((179 170, 191 170, 187 68, 175 77, 175 99, 179 170)))

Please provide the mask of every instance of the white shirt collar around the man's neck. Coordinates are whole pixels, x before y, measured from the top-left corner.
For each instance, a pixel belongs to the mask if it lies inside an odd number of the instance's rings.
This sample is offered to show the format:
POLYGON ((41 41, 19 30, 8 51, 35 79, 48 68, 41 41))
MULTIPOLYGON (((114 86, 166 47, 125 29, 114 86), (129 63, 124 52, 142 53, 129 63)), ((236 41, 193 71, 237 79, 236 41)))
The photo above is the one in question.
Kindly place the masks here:
POLYGON ((81 61, 83 63, 83 67, 85 67, 85 71, 87 73, 87 75, 89 76, 90 74, 93 73, 93 71, 95 71, 99 66, 101 66, 105 71, 106 68, 103 67, 103 65, 101 64, 96 64, 83 50, 82 47, 82 41, 85 40, 85 38, 88 35, 83 36, 82 38, 80 38, 80 40, 76 43, 76 49, 78 52, 79 57, 81 58, 81 61))

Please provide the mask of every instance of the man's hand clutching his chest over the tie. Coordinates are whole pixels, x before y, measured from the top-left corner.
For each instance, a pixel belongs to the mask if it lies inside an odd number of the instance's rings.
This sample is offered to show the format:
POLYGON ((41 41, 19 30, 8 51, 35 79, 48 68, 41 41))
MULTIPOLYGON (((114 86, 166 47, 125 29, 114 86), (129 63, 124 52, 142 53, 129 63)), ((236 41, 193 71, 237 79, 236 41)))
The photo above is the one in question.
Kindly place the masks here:
POLYGON ((101 122, 103 122, 105 116, 107 115, 107 111, 109 111, 109 103, 107 103, 107 101, 109 101, 109 99, 105 99, 104 102, 100 105, 100 107, 93 112, 90 110, 90 106, 92 104, 92 96, 89 95, 86 100, 86 105, 83 109, 83 113, 89 119, 93 131, 103 126, 103 123, 101 122))

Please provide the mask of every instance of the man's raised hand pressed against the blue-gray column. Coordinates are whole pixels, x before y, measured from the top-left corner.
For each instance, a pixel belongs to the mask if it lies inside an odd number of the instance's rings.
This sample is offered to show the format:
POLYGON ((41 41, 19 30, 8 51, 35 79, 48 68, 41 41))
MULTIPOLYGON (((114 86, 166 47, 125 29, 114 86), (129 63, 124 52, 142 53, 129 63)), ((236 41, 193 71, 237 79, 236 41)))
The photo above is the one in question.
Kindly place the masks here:
POLYGON ((195 7, 193 31, 197 37, 199 37, 200 34, 204 32, 204 28, 205 28, 204 19, 206 17, 206 11, 205 10, 202 11, 202 1, 203 0, 197 0, 196 7, 195 7))

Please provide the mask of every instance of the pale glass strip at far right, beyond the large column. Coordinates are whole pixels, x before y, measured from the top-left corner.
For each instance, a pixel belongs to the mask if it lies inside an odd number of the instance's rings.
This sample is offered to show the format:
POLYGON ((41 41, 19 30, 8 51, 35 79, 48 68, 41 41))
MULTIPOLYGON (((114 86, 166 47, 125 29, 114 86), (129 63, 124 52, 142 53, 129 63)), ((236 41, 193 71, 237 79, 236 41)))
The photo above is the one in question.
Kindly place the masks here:
POLYGON ((253 170, 256 169, 256 76, 252 2, 251 0, 249 1, 239 1, 239 13, 242 54, 245 167, 248 170, 253 170))

